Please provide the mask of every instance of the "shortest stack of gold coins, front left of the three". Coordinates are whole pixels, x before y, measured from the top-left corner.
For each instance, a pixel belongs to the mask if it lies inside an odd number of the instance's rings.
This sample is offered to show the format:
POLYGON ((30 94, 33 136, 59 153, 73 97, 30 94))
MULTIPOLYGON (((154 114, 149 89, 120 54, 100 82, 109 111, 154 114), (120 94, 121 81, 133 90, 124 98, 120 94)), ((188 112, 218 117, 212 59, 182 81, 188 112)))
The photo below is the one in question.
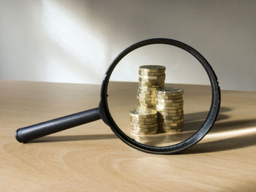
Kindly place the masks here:
POLYGON ((129 111, 132 134, 155 134, 158 129, 157 110, 138 109, 129 111))

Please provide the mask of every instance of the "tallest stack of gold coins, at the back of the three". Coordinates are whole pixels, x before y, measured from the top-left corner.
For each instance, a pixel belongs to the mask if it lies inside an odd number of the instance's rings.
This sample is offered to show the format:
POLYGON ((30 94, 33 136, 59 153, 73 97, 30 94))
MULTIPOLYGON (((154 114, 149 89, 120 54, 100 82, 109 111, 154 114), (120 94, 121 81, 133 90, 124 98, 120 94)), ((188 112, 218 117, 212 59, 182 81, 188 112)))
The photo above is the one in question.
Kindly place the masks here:
POLYGON ((140 66, 138 82, 138 106, 143 109, 155 109, 155 93, 165 85, 165 66, 140 66))

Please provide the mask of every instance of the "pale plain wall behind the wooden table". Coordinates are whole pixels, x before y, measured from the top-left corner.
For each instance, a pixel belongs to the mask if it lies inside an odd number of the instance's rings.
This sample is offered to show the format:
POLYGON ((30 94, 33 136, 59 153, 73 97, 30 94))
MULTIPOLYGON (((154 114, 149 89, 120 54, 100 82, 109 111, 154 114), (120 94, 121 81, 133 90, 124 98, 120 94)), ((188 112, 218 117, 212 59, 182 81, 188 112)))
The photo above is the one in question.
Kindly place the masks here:
MULTIPOLYGON (((0 0, 0 79, 101 83, 121 50, 167 37, 202 53, 222 89, 256 91, 255 18, 253 0, 0 0)), ((164 64, 167 82, 208 83, 192 56, 170 46, 122 64, 114 80, 136 81, 139 65, 164 64)))

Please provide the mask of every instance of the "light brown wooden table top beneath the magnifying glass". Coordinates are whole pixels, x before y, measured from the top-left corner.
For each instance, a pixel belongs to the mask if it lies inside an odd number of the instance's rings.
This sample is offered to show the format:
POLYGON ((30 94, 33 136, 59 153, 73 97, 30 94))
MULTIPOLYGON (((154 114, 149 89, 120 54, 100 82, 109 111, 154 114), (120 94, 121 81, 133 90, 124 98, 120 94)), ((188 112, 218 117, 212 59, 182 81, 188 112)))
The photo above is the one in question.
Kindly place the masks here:
MULTIPOLYGON (((134 84, 120 85, 113 87, 132 99, 134 84)), ((180 86, 190 103, 185 120, 207 115, 208 86, 180 86)), ((17 128, 97 107, 100 85, 1 80, 0 90, 0 191, 256 191, 255 92, 222 91, 219 118, 203 140, 153 155, 125 145, 102 120, 15 140, 17 128)))

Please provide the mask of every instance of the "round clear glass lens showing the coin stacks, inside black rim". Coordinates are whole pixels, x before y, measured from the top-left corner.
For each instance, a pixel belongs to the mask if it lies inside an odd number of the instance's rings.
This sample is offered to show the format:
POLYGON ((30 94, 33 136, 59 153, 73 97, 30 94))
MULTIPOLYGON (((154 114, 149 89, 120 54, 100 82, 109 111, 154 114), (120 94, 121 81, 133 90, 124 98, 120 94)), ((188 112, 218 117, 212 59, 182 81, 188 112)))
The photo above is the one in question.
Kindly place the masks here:
POLYGON ((148 45, 126 55, 113 70, 108 107, 128 137, 156 147, 175 145, 203 125, 211 107, 211 84, 187 51, 148 45))

